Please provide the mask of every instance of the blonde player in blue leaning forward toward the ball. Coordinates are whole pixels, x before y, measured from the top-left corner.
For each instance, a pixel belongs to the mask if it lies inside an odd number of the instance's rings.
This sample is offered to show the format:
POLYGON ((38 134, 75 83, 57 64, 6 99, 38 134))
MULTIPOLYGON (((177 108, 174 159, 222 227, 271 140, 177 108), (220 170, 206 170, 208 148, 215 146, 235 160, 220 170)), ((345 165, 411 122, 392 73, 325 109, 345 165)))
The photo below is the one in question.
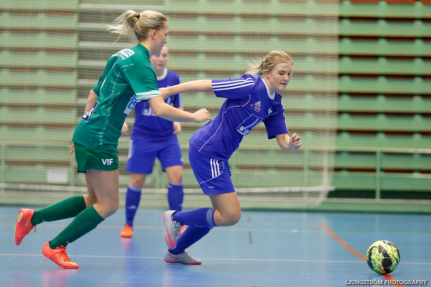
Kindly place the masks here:
POLYGON ((276 138, 284 151, 296 151, 300 136, 288 134, 281 95, 292 74, 293 62, 281 51, 272 51, 259 65, 238 79, 196 80, 160 89, 163 96, 177 93, 213 91, 226 98, 219 114, 190 139, 189 160, 197 182, 208 194, 212 208, 166 211, 165 241, 169 263, 201 264, 184 250, 215 226, 238 222, 241 208, 230 179, 228 159, 244 136, 258 123, 265 123, 268 139, 276 138), (181 225, 189 225, 178 237, 181 225))

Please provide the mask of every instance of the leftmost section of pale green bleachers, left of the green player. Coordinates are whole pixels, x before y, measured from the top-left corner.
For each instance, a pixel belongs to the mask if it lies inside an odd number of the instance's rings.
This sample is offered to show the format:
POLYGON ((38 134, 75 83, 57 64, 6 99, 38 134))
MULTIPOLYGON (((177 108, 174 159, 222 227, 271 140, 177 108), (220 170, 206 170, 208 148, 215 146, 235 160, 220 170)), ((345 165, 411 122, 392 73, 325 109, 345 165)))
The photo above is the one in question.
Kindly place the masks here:
POLYGON ((2 6, 1 182, 46 184, 52 170, 74 171, 67 145, 77 117, 76 8, 65 0, 2 6))

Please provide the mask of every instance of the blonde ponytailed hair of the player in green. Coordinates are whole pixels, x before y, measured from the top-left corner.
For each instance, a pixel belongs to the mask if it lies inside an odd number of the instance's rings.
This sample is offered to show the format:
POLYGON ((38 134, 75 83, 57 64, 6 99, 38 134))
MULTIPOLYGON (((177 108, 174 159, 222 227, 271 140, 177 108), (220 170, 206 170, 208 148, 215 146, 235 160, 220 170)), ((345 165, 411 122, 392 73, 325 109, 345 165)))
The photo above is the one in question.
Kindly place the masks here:
POLYGON ((111 33, 119 34, 117 40, 121 36, 135 36, 138 41, 141 41, 147 39, 150 31, 159 30, 165 22, 167 22, 166 16, 157 11, 146 10, 137 13, 127 10, 114 20, 114 24, 117 25, 106 26, 108 28, 106 31, 112 30, 111 33))

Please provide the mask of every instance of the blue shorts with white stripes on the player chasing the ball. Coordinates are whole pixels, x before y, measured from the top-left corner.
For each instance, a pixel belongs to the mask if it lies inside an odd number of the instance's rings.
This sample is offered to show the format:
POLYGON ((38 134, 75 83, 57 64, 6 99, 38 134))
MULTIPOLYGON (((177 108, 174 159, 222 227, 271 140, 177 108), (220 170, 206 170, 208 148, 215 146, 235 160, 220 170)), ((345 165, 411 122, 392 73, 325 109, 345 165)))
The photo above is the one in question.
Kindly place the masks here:
POLYGON ((205 194, 234 192, 227 160, 214 160, 189 147, 189 161, 194 176, 205 194))

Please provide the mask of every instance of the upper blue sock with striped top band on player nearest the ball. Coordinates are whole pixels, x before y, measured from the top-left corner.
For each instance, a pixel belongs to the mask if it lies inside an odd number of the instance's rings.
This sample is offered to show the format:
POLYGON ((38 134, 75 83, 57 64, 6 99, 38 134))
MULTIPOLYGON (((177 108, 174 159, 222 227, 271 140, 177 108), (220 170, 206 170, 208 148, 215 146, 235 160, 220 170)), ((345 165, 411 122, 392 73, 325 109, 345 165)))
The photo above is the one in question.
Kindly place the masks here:
POLYGON ((180 222, 181 225, 213 228, 217 226, 214 223, 214 211, 215 208, 209 207, 187 211, 177 211, 172 214, 172 219, 180 222))

